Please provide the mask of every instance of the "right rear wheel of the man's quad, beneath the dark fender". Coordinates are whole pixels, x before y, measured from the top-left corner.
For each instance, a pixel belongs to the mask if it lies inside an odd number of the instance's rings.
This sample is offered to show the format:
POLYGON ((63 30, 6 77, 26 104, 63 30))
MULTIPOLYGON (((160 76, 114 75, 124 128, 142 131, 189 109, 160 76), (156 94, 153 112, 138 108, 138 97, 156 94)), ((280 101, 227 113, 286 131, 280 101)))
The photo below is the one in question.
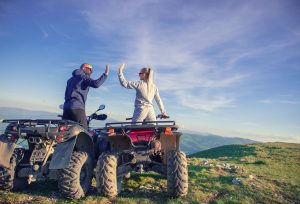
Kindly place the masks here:
POLYGON ((67 168, 62 169, 58 179, 61 193, 70 199, 86 195, 93 178, 93 160, 86 152, 74 151, 67 168))

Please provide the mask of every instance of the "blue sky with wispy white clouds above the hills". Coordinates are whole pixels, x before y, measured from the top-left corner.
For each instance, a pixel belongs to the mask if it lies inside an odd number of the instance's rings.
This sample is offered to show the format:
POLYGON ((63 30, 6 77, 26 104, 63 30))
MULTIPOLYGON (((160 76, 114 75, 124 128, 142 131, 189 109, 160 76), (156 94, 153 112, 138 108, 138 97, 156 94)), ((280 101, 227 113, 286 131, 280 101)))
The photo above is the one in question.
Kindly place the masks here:
POLYGON ((0 0, 0 107, 60 113, 84 62, 94 79, 110 66, 87 113, 132 116, 125 63, 132 81, 153 68, 182 130, 300 143, 298 0, 0 0))

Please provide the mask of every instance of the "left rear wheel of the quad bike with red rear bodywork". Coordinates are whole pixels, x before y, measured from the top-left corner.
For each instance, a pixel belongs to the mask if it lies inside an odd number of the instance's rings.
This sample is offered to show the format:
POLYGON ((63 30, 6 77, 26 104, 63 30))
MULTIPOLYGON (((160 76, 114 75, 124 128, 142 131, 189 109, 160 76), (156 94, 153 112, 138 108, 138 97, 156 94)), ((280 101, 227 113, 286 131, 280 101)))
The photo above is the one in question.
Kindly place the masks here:
POLYGON ((96 166, 96 187, 101 195, 115 197, 120 193, 122 178, 117 175, 117 165, 117 155, 100 155, 96 166))

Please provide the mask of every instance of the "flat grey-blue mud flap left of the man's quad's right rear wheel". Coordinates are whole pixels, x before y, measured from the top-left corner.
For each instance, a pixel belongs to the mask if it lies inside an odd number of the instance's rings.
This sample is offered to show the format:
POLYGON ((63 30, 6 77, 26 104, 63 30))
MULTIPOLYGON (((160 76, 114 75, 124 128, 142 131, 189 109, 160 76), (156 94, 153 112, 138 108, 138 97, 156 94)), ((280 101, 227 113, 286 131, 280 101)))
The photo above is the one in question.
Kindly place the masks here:
POLYGON ((75 143, 76 137, 73 137, 67 142, 59 143, 55 148, 49 169, 64 169, 68 167, 75 143))

